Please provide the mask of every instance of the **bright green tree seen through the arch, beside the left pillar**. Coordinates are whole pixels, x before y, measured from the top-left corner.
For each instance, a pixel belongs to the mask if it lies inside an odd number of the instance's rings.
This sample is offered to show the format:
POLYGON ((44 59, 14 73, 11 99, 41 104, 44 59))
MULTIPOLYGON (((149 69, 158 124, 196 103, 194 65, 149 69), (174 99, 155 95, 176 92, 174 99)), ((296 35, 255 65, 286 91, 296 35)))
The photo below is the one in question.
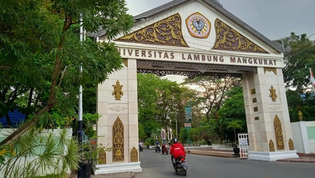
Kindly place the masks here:
POLYGON ((187 97, 193 92, 180 87, 176 82, 160 79, 155 74, 137 74, 138 79, 138 119, 143 129, 141 138, 158 135, 161 127, 184 126, 184 106, 187 97), (146 136, 143 135, 143 131, 146 136))

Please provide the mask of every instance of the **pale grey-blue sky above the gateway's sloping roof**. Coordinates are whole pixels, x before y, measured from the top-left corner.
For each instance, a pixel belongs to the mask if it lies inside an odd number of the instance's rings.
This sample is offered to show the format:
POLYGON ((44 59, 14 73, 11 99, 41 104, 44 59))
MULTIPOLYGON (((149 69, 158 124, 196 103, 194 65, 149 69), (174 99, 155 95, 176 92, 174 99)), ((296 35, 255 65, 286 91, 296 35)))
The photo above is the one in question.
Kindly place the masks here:
MULTIPOLYGON (((172 0, 126 0, 135 16, 172 0)), ((315 40, 315 0, 219 0, 227 11, 270 40, 306 34, 315 40), (313 36, 312 36, 313 35, 313 36)))

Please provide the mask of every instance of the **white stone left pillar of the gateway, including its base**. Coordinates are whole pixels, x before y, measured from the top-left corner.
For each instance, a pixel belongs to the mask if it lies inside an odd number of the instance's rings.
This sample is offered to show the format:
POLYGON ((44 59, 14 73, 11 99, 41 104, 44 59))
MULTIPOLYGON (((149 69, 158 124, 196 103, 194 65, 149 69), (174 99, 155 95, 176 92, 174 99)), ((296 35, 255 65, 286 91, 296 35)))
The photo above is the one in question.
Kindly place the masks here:
POLYGON ((96 124, 97 144, 108 145, 113 150, 106 152, 106 164, 95 165, 95 175, 142 172, 138 152, 137 62, 128 59, 123 66, 97 87, 97 113, 101 115, 96 124), (124 127, 123 133, 119 133, 124 135, 123 141, 114 134, 115 121, 124 127), (123 148, 117 142, 123 142, 123 148))

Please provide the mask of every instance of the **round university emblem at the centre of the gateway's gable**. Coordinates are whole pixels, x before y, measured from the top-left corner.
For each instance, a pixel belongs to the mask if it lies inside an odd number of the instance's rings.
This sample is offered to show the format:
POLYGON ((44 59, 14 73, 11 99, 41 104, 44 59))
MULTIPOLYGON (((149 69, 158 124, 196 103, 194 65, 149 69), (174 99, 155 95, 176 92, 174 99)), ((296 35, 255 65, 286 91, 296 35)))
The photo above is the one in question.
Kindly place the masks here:
POLYGON ((186 19, 189 34, 197 38, 207 38, 210 34, 211 23, 202 14, 196 12, 186 19))

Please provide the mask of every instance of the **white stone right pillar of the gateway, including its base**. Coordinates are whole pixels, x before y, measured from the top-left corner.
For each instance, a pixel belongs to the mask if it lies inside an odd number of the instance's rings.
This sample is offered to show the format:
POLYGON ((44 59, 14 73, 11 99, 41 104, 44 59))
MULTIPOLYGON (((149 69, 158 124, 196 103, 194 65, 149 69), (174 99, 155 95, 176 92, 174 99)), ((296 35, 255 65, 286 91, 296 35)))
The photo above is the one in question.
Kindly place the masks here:
POLYGON ((276 161, 298 157, 289 146, 293 138, 282 69, 258 67, 257 72, 246 72, 242 77, 251 144, 249 159, 276 161))

